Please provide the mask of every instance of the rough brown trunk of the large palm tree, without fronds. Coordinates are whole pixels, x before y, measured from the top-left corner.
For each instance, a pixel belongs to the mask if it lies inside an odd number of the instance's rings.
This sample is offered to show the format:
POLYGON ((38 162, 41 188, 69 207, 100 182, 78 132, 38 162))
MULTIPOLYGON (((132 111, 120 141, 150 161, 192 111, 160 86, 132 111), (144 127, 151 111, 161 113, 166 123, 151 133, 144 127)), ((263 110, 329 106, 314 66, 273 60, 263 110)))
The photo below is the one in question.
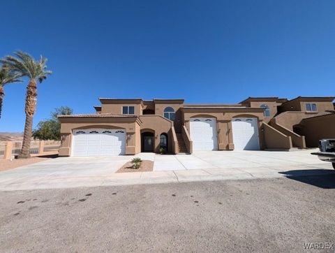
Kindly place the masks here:
POLYGON ((31 79, 27 86, 26 107, 25 107, 26 123, 24 124, 22 149, 20 154, 18 155, 18 158, 30 157, 30 143, 33 128, 33 117, 36 110, 36 99, 37 99, 36 80, 31 79))

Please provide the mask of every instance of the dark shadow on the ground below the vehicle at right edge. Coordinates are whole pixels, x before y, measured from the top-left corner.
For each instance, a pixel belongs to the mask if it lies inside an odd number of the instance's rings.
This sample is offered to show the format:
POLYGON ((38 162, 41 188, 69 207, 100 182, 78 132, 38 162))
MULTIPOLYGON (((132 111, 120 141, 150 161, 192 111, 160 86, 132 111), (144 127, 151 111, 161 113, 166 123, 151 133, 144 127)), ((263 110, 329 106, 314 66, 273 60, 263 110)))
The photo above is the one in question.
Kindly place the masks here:
POLYGON ((279 172, 286 178, 304 182, 308 185, 314 185, 323 189, 335 189, 335 170, 298 170, 279 172))

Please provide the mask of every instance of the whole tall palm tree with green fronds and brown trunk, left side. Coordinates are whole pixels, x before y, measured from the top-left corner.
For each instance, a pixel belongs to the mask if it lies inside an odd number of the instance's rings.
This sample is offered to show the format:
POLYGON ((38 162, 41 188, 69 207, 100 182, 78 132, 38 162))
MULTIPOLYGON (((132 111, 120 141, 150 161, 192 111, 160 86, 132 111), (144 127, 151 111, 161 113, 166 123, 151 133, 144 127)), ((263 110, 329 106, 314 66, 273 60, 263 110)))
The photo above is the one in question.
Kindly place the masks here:
POLYGON ((43 82, 52 71, 47 70, 46 58, 40 56, 40 59, 36 60, 27 52, 22 51, 15 52, 15 56, 8 55, 4 57, 1 62, 6 64, 15 75, 29 78, 25 106, 26 122, 24 124, 22 149, 18 155, 18 158, 29 158, 33 117, 36 110, 37 80, 38 82, 43 82))

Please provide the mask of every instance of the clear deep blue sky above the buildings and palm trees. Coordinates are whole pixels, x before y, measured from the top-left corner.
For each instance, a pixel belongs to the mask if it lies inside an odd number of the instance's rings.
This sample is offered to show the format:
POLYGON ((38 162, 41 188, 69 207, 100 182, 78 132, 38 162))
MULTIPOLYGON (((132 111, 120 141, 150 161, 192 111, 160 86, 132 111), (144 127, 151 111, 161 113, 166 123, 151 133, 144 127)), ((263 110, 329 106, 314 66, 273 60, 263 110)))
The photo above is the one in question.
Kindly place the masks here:
MULTIPOLYGON (((237 103, 335 95, 335 1, 1 1, 0 56, 49 59, 34 125, 98 97, 237 103)), ((23 131, 27 82, 6 87, 0 131, 23 131)))

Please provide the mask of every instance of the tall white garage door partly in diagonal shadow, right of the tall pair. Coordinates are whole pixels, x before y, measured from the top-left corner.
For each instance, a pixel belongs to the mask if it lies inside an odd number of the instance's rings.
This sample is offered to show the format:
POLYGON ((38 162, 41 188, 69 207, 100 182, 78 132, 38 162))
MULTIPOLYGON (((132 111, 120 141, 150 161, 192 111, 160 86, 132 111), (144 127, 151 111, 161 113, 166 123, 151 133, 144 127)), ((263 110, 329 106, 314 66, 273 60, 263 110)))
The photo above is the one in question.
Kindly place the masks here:
POLYGON ((232 120, 234 150, 259 150, 258 120, 255 117, 238 117, 232 120))

